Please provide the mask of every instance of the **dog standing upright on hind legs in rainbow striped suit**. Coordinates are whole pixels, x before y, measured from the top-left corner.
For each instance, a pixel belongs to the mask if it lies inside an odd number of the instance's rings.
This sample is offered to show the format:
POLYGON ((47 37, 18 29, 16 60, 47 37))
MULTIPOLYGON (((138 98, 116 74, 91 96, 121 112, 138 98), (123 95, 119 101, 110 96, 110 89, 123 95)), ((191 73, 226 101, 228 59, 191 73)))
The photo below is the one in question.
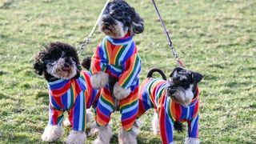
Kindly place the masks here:
POLYGON ((94 89, 102 89, 96 108, 98 138, 94 143, 110 143, 112 131, 108 125, 115 110, 122 114, 119 143, 137 143, 133 124, 138 113, 138 74, 141 59, 134 35, 144 30, 143 19, 124 0, 108 3, 99 22, 106 38, 98 45, 92 57, 90 78, 94 89), (110 86, 110 77, 117 79, 110 86))

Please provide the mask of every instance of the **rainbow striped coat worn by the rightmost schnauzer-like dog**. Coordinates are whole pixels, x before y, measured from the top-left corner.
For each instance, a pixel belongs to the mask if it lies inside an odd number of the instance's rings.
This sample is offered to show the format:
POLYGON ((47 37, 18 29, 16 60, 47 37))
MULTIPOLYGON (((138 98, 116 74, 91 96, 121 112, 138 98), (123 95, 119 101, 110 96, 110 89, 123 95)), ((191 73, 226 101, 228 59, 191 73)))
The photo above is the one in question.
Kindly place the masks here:
POLYGON ((159 128, 162 143, 173 142, 174 122, 188 123, 188 137, 198 138, 198 111, 199 90, 190 106, 184 107, 171 100, 166 95, 168 84, 165 80, 158 78, 146 78, 139 88, 139 112, 138 117, 154 108, 158 113, 159 128))

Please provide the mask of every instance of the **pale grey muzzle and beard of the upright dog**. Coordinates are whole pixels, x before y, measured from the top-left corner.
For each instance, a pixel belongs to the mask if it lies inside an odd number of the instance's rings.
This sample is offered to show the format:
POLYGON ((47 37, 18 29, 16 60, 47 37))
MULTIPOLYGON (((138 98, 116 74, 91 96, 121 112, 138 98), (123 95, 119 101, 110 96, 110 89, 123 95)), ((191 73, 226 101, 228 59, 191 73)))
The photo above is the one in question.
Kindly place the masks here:
POLYGON ((128 27, 123 28, 122 22, 115 21, 116 24, 106 26, 104 22, 101 22, 100 27, 101 31, 109 35, 111 38, 122 38, 124 37, 128 32, 128 27))

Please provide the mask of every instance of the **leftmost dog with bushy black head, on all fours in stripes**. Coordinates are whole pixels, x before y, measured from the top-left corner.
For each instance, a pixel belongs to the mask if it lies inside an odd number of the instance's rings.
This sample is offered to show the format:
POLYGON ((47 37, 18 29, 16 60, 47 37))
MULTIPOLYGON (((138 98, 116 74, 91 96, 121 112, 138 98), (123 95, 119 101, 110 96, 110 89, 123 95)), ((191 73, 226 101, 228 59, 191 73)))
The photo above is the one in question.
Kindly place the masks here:
POLYGON ((97 105, 100 90, 91 86, 91 74, 82 70, 77 51, 66 43, 52 42, 34 58, 34 70, 43 75, 49 89, 49 122, 42 141, 54 142, 62 137, 63 113, 67 111, 72 130, 66 143, 86 142, 86 121, 91 119, 86 118, 90 114, 86 108, 97 105))

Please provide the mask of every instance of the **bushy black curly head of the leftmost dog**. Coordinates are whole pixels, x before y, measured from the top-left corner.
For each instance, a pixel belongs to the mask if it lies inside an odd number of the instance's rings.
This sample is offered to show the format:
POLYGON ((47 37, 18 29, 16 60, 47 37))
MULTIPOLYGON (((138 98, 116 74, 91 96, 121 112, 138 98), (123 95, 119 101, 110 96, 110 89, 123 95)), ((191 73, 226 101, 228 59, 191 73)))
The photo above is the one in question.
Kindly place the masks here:
POLYGON ((78 78, 81 66, 77 51, 73 46, 61 42, 52 42, 45 46, 34 58, 34 70, 52 82, 59 78, 78 78))

